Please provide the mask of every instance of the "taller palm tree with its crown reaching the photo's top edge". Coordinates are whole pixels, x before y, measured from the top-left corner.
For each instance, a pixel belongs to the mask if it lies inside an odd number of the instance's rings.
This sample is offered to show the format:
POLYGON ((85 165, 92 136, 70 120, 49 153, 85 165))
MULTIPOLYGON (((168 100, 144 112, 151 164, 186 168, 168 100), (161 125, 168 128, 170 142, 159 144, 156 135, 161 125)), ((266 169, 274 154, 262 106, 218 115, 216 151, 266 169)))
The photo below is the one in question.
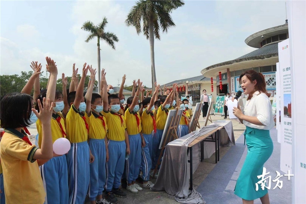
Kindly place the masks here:
POLYGON ((160 29, 162 29, 162 32, 168 32, 170 27, 175 26, 170 13, 183 5, 185 3, 180 0, 140 0, 132 7, 125 20, 127 26, 134 26, 138 35, 143 32, 144 36, 150 42, 153 90, 155 90, 154 82, 156 81, 154 37, 160 40, 160 29))

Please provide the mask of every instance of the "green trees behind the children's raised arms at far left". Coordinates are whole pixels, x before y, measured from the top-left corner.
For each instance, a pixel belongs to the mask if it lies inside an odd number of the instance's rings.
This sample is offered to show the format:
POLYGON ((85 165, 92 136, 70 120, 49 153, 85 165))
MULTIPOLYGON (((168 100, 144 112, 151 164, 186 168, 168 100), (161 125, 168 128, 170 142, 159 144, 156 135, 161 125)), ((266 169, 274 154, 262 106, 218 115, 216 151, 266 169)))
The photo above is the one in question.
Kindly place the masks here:
MULTIPOLYGON (((26 85, 26 83, 28 82, 28 79, 32 76, 32 74, 33 74, 33 71, 29 71, 29 72, 21 71, 20 75, 18 74, 1 75, 0 76, 0 97, 3 97, 8 93, 21 92, 21 90, 26 85)), ((90 78, 89 75, 87 75, 85 78, 85 84, 84 84, 85 90, 87 90, 89 78, 90 78)), ((67 89, 69 89, 71 77, 67 77, 67 80, 68 80, 67 89)), ((79 77, 79 81, 80 81, 80 77, 79 77)), ((47 88, 48 78, 45 77, 45 74, 43 74, 43 72, 40 74, 39 82, 40 82, 40 89, 47 88)), ((95 80, 94 89, 96 89, 97 87, 98 87, 98 81, 95 80)), ((63 83, 62 83, 62 78, 60 74, 58 74, 56 89, 61 92, 63 90, 63 83)), ((32 89, 31 95, 33 95, 33 93, 34 93, 34 89, 32 89)))

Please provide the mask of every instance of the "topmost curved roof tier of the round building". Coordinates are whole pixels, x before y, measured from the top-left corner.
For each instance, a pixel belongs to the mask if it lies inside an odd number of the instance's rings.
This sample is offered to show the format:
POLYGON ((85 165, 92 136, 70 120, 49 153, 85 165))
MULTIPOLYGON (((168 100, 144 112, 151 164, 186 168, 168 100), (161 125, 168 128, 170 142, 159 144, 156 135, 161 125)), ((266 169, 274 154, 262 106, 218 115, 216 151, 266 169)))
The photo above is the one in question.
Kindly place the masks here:
POLYGON ((260 48, 260 43, 266 38, 284 33, 288 33, 288 23, 256 32, 248 36, 244 42, 250 47, 260 48))

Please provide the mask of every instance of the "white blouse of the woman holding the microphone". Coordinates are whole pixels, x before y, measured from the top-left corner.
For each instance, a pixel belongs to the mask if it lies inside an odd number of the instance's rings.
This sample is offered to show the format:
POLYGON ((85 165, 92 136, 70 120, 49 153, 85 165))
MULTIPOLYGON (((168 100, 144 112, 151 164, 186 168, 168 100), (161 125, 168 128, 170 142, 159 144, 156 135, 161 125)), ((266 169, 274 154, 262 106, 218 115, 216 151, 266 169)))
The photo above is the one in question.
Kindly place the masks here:
POLYGON ((272 105, 269 97, 265 93, 256 91, 250 100, 247 100, 243 110, 244 115, 255 116, 263 125, 254 125, 247 121, 243 121, 243 124, 248 127, 271 130, 274 127, 274 120, 272 116, 272 105))

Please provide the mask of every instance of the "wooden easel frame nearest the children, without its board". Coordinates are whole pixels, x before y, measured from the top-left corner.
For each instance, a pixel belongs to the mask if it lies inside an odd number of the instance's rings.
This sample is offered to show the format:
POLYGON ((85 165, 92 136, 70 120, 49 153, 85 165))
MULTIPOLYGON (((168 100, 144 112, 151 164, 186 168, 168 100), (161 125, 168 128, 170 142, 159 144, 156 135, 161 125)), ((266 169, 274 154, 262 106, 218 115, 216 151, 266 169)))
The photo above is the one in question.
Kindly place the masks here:
POLYGON ((159 154, 158 161, 157 161, 157 164, 156 164, 154 172, 153 172, 153 178, 156 174, 158 166, 162 163, 160 161, 160 159, 162 158, 162 155, 164 153, 164 149, 165 149, 166 145, 169 142, 172 142, 173 140, 176 140, 178 138, 177 127, 180 124, 180 120, 181 120, 181 115, 178 114, 178 110, 176 109, 175 116, 171 118, 169 128, 167 130, 167 133, 165 134, 165 138, 163 139, 162 149, 161 149, 161 152, 159 154))

